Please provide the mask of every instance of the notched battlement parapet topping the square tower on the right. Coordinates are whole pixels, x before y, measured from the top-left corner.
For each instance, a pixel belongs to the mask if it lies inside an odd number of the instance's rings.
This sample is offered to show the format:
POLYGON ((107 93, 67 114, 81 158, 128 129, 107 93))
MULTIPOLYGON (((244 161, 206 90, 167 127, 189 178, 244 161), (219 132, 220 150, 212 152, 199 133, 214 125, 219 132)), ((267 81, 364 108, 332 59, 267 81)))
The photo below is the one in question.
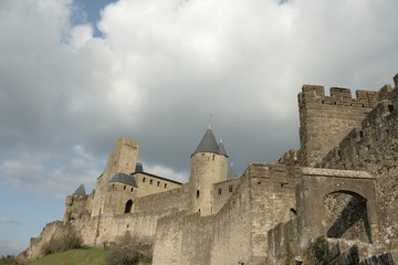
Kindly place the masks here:
POLYGON ((349 88, 331 87, 331 96, 325 96, 324 86, 303 85, 302 93, 298 94, 298 100, 302 103, 312 102, 327 105, 346 105, 353 107, 375 107, 377 104, 377 92, 356 91, 356 98, 352 97, 349 88))

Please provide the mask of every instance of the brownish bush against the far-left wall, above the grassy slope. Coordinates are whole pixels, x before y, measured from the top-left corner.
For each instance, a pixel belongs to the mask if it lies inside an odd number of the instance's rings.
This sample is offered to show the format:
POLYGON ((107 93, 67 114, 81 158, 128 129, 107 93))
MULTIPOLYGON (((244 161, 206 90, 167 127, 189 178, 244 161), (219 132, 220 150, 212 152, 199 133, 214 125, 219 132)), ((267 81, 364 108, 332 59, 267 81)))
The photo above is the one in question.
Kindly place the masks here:
POLYGON ((59 236, 53 236, 49 243, 42 246, 42 254, 49 255, 55 252, 75 250, 82 246, 83 240, 80 234, 67 225, 59 236))

